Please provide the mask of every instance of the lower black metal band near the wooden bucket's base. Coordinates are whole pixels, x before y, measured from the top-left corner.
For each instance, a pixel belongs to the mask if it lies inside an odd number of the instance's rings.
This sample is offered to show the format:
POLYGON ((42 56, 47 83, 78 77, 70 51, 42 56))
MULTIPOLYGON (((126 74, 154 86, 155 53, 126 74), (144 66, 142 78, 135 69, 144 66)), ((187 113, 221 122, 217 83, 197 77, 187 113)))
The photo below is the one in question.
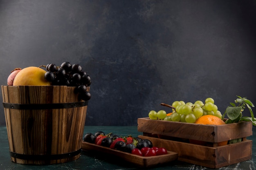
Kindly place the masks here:
POLYGON ((23 160, 57 160, 57 159, 66 159, 74 157, 81 153, 81 149, 74 152, 68 152, 63 154, 56 155, 24 155, 10 151, 10 155, 13 158, 23 159, 23 160))

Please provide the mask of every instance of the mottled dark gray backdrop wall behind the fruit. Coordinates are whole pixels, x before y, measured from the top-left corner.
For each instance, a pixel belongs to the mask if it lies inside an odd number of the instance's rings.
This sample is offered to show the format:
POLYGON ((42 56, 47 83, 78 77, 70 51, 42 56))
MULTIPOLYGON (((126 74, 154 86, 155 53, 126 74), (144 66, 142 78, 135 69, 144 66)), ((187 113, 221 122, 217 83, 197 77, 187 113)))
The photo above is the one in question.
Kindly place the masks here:
POLYGON ((255 45, 255 0, 0 0, 0 84, 16 67, 79 63, 86 125, 136 126, 175 100, 256 104, 255 45))

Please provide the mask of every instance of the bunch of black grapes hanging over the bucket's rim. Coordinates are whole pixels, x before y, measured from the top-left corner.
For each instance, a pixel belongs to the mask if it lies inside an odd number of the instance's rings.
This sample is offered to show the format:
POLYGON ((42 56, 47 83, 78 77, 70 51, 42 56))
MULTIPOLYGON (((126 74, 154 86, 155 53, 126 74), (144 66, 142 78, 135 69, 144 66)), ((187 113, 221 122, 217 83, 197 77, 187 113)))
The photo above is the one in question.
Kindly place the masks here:
POLYGON ((91 77, 83 71, 80 64, 63 62, 61 66, 47 64, 45 68, 45 79, 53 86, 75 86, 75 93, 79 93, 82 100, 90 100, 91 94, 86 90, 91 85, 91 77))

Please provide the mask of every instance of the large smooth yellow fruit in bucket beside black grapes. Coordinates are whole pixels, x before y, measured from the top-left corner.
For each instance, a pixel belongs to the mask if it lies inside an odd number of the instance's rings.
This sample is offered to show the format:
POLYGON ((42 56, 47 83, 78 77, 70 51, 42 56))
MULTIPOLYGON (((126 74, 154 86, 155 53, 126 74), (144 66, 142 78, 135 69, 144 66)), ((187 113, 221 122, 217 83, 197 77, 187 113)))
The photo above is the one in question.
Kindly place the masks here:
POLYGON ((14 78, 13 86, 50 86, 45 80, 46 71, 42 68, 30 66, 23 68, 14 78))

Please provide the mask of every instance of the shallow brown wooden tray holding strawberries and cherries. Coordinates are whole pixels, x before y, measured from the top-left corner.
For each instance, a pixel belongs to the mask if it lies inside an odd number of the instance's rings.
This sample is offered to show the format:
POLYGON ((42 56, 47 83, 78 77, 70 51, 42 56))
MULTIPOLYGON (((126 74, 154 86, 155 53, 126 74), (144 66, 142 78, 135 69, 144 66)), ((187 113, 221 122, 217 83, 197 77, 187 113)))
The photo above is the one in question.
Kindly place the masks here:
POLYGON ((103 152, 106 154, 109 154, 111 156, 119 157, 120 159, 123 159, 124 161, 128 161, 130 163, 133 163, 140 167, 150 167, 159 165, 162 163, 168 163, 171 161, 174 161, 178 158, 178 154, 176 152, 168 151, 168 154, 166 155, 159 155, 159 156, 153 156, 153 157, 142 157, 134 154, 130 154, 127 152, 122 152, 119 150, 114 150, 111 148, 99 146, 96 144, 90 144, 88 142, 82 142, 82 150, 89 150, 93 152, 103 152))

